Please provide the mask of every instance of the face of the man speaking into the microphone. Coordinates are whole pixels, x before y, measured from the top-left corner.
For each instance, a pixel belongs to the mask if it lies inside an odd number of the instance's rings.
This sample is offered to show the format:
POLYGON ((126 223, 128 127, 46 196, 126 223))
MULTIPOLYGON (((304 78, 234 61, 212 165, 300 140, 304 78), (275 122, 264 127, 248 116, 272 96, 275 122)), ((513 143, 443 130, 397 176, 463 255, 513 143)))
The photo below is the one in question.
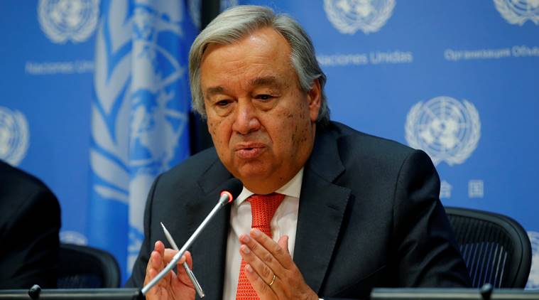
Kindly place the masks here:
POLYGON ((290 181, 314 144, 320 84, 300 89, 285 38, 262 28, 231 45, 209 45, 200 70, 207 125, 224 166, 254 193, 290 181))

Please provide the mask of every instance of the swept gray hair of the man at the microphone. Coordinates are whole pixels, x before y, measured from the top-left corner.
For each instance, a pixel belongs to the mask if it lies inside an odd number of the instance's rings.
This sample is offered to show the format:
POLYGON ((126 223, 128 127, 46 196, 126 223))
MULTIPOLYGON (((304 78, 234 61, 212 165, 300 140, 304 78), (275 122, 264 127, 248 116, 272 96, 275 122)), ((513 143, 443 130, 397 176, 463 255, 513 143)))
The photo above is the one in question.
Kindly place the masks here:
POLYGON ((321 125, 330 121, 324 85, 326 75, 316 60, 315 48, 307 33, 290 16, 275 14, 264 6, 234 6, 219 14, 197 36, 189 52, 189 79, 191 85, 192 107, 202 117, 206 117, 204 95, 200 86, 200 64, 207 46, 212 43, 229 45, 260 28, 271 27, 281 33, 291 48, 290 63, 298 75, 300 88, 311 90, 317 79, 321 88, 321 105, 317 122, 321 125))

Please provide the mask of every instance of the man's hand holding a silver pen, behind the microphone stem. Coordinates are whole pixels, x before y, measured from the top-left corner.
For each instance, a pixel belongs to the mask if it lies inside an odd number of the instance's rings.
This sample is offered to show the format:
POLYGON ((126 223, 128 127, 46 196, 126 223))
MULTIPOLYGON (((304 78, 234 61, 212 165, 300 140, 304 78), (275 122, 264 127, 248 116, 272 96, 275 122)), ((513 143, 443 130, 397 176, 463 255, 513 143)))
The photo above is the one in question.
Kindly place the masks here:
MULTIPOLYGON (((148 284, 153 277, 156 277, 168 262, 173 259, 176 253, 178 253, 178 251, 165 249, 163 242, 157 241, 153 252, 151 252, 148 265, 146 266, 144 285, 148 284)), ((192 286, 192 282, 182 266, 183 262, 186 260, 189 267, 192 268, 191 254, 185 252, 185 255, 178 261, 178 274, 175 274, 174 271, 170 271, 166 274, 163 279, 146 293, 146 299, 195 299, 195 287, 192 286)))

